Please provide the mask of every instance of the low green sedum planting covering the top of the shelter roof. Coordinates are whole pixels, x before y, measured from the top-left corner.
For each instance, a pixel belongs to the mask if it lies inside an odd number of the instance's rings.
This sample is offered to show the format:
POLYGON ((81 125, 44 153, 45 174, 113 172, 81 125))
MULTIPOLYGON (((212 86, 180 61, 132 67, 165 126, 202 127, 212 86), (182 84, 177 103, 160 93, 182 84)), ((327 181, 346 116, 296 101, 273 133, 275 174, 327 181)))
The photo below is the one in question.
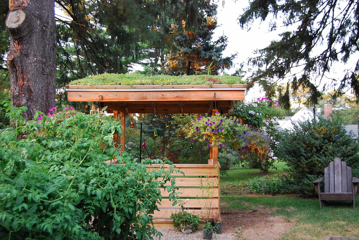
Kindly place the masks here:
POLYGON ((197 85, 197 84, 244 84, 241 77, 229 75, 144 75, 127 74, 99 74, 71 81, 70 85, 197 85))

